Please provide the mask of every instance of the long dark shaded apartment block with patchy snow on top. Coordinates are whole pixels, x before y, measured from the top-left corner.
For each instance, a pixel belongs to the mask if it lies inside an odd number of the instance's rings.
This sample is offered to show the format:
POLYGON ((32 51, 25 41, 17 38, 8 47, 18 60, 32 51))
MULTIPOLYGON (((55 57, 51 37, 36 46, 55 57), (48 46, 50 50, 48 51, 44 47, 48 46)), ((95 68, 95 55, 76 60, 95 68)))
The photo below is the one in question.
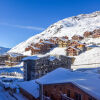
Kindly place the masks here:
POLYGON ((31 56, 23 58, 24 61, 24 80, 37 79, 46 73, 58 68, 71 68, 72 59, 70 57, 59 56, 31 56))

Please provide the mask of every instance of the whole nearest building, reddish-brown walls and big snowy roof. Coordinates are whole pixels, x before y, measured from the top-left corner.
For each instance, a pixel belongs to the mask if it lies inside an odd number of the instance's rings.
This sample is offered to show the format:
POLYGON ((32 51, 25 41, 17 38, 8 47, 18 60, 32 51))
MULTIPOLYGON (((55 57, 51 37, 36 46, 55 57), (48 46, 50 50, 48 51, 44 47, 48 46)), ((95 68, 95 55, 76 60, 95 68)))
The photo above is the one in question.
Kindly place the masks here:
POLYGON ((29 100, 100 100, 100 79, 91 75, 57 68, 37 80, 22 82, 19 87, 29 100))

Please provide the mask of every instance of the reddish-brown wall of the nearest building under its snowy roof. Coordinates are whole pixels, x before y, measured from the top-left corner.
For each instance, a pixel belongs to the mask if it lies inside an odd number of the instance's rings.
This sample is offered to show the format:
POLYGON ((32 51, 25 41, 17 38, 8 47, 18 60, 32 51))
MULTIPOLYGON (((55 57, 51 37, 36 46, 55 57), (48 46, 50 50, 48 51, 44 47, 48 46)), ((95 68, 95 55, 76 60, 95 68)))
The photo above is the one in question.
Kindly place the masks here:
POLYGON ((50 97, 51 100, 62 100, 62 94, 66 94, 74 100, 96 100, 94 97, 90 96, 72 83, 44 85, 43 94, 50 97), (81 99, 75 97, 76 93, 81 95, 81 99))

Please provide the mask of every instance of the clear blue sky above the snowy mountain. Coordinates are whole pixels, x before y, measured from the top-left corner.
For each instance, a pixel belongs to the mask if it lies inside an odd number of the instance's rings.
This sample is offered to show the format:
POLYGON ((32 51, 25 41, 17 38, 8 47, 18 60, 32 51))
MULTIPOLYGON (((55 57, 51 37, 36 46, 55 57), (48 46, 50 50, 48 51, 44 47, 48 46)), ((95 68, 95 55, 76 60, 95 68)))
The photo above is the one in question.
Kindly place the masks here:
POLYGON ((12 48, 49 25, 100 11, 100 0, 0 0, 0 46, 12 48))

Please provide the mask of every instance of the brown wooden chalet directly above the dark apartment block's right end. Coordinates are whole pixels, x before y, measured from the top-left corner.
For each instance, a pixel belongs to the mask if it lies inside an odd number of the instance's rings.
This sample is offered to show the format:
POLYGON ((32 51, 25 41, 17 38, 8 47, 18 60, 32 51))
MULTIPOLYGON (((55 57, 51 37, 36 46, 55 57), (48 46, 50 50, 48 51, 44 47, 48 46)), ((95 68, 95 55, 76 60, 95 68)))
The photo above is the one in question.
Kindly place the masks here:
POLYGON ((67 56, 77 56, 77 55, 79 55, 81 53, 81 50, 80 49, 78 49, 78 48, 75 48, 75 47, 68 47, 67 49, 66 49, 66 54, 67 54, 67 56))

